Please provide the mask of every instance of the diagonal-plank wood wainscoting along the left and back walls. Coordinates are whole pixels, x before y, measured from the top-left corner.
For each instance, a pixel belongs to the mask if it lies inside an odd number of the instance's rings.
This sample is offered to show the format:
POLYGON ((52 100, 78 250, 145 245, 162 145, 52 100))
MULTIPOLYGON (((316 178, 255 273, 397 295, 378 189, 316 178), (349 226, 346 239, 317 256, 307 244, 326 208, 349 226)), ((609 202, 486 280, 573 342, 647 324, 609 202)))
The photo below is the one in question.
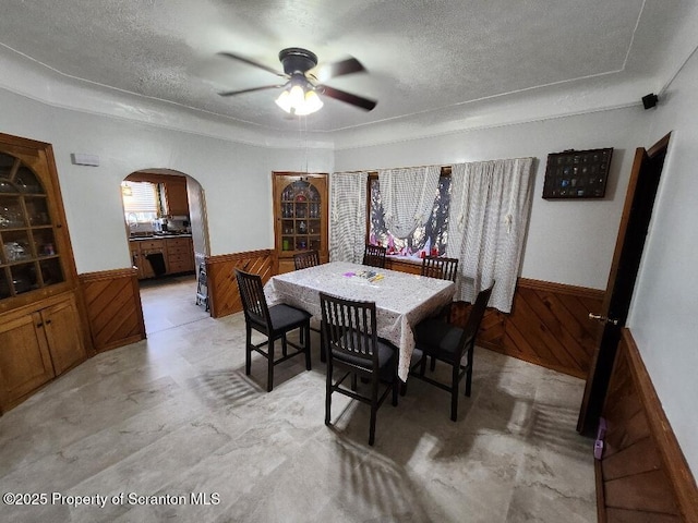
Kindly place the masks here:
MULTIPOLYGON (((394 270, 419 273, 417 264, 393 262, 394 270)), ((208 300, 214 318, 242 311, 233 269, 262 276, 274 273, 270 250, 206 257, 208 300)), ((80 277, 92 338, 97 351, 145 338, 136 273, 109 270, 80 277)), ((503 354, 586 378, 598 325, 589 312, 601 306, 603 291, 519 279, 510 314, 490 309, 478 343, 503 354)), ((454 306, 454 321, 465 320, 469 305, 454 306)))

